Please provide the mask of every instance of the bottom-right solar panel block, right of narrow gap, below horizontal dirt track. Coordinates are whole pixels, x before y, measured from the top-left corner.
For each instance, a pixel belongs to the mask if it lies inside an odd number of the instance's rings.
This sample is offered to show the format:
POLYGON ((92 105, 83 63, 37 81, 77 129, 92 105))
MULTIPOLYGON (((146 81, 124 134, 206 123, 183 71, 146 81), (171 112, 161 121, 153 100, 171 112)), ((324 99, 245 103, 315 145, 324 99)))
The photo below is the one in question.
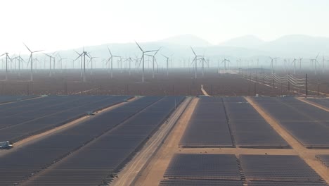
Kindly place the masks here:
POLYGON ((247 180, 323 182, 299 156, 240 155, 239 159, 247 180))

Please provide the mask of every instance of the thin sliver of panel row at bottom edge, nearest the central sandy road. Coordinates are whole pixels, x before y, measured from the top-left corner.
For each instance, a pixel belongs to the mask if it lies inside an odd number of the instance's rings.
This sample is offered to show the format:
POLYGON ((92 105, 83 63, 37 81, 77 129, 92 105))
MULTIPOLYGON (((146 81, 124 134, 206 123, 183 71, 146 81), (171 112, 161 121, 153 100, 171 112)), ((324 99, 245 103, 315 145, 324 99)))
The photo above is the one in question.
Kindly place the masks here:
POLYGON ((243 186, 241 180, 162 180, 160 186, 243 186))

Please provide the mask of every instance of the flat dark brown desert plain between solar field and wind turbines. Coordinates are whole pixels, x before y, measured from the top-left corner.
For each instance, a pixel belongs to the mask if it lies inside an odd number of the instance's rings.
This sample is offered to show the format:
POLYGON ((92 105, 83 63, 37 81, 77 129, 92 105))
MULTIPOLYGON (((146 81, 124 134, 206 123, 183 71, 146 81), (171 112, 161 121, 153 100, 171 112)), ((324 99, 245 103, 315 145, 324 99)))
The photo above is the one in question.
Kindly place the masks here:
MULTIPOLYGON (((87 74, 86 82, 81 81, 79 70, 64 70, 63 73, 55 73, 49 77, 47 70, 38 70, 34 74, 34 82, 29 82, 30 73, 23 71, 22 76, 11 74, 9 80, 0 82, 0 94, 129 94, 129 95, 200 95, 200 86, 210 95, 216 96, 254 96, 254 94, 277 96, 280 94, 304 94, 302 89, 291 89, 287 86, 282 89, 272 88, 271 85, 251 82, 241 75, 218 74, 217 69, 206 69, 205 76, 193 78, 191 69, 170 70, 167 76, 163 70, 155 74, 146 70, 146 82, 141 83, 141 73, 132 71, 131 75, 124 71, 114 70, 113 78, 107 70, 93 70, 93 75, 87 74)), ((278 72, 279 73, 279 72, 278 72)), ((0 73, 0 79, 2 75, 0 73)), ((297 77, 304 77, 301 73, 297 77)), ((329 75, 321 77, 320 92, 329 93, 329 75), (325 84, 327 83, 327 84, 325 84)), ((318 77, 309 75, 309 94, 317 95, 318 77)))

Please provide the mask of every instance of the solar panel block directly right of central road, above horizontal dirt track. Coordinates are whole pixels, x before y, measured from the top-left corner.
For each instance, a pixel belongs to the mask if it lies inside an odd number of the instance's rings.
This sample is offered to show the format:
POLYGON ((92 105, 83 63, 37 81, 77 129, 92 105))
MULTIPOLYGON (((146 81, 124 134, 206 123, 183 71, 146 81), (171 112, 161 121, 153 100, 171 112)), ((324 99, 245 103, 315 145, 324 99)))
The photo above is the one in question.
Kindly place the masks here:
POLYGON ((200 97, 181 147, 233 147, 221 98, 200 97))

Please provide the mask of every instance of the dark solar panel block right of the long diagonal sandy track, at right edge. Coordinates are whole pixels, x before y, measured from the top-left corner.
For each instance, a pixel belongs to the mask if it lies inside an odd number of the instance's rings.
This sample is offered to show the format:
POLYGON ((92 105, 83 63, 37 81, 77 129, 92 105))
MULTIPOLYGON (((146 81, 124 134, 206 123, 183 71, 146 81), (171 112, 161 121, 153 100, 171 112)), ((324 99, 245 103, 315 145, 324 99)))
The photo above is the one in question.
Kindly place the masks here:
POLYGON ((278 123, 304 147, 329 148, 329 115, 327 111, 293 97, 256 97, 254 100, 278 120, 278 123))

